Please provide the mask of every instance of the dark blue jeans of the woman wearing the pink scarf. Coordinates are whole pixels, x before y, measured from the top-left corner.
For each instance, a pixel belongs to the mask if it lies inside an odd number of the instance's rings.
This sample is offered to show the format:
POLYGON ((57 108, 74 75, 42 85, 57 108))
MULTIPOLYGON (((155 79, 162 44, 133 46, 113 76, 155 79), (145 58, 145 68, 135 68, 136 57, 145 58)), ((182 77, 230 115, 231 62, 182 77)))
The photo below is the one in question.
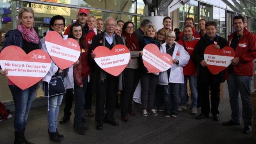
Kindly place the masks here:
POLYGON ((27 124, 30 106, 36 95, 37 84, 25 90, 20 89, 16 85, 9 85, 12 98, 15 105, 14 129, 16 132, 23 132, 27 124))

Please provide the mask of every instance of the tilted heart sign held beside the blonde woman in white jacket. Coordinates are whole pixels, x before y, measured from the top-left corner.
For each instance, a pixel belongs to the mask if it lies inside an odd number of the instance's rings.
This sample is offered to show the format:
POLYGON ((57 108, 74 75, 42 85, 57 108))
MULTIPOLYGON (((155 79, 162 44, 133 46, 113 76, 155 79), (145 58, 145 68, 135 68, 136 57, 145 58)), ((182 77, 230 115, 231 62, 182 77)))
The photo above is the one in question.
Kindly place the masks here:
POLYGON ((147 44, 144 47, 142 59, 149 73, 167 71, 172 66, 172 56, 167 53, 160 53, 155 44, 147 44))

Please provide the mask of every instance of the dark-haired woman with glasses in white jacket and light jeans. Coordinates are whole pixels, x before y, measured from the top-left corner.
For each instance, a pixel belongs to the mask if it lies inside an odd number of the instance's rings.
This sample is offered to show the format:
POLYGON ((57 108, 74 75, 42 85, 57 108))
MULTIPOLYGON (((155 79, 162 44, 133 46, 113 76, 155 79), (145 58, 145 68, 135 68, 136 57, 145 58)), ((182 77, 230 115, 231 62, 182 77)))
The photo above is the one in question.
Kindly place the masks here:
MULTIPOLYGON (((64 27, 65 27, 65 18, 64 17, 62 17, 60 15, 55 15, 51 18, 50 25, 49 25, 50 31, 57 32, 58 34, 61 35, 61 37, 64 40, 66 40, 67 36, 62 35, 62 32, 64 31, 64 27)), ((46 37, 47 37, 47 34, 46 34, 46 37)), ((48 52, 45 37, 43 39, 41 39, 41 41, 40 41, 40 48, 42 50, 48 52)), ((52 57, 51 57, 51 59, 52 59, 52 57)), ((66 89, 73 88, 73 86, 74 86, 73 65, 70 66, 69 68, 62 70, 61 68, 59 68, 56 65, 56 63, 54 63, 53 60, 52 60, 51 68, 50 68, 49 72, 47 73, 47 75, 44 76, 44 78, 42 79, 42 82, 49 84, 52 76, 55 76, 59 73, 62 73, 61 76, 63 78, 65 88, 66 89)), ((62 103, 62 98, 63 98, 63 94, 48 97, 49 103, 48 103, 48 111, 47 111, 47 123, 48 123, 48 134, 49 134, 50 140, 52 140, 52 142, 61 142, 60 138, 64 137, 63 135, 59 134, 59 132, 57 130, 59 106, 62 103)))

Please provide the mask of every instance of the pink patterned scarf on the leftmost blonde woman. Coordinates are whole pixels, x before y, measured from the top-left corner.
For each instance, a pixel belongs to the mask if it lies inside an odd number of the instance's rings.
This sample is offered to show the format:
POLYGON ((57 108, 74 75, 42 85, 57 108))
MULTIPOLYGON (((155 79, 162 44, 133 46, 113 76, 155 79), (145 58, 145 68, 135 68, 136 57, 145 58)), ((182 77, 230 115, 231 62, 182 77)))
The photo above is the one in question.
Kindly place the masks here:
POLYGON ((17 30, 22 34, 22 38, 25 39, 29 43, 38 44, 39 39, 37 36, 37 32, 32 27, 28 29, 23 24, 18 24, 17 30))

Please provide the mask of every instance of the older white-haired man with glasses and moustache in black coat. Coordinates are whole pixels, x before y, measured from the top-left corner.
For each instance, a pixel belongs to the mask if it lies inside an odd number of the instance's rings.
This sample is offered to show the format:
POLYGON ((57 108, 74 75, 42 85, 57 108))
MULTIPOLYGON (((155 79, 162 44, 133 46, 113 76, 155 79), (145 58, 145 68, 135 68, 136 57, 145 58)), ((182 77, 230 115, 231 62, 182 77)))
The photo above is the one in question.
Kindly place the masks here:
MULTIPOLYGON (((105 22, 105 31, 97 34, 92 39, 91 44, 91 58, 94 59, 96 54, 94 49, 97 46, 106 46, 112 49, 117 44, 123 44, 120 36, 115 34, 116 20, 113 17, 108 17, 105 22)), ((118 126, 119 123, 113 118, 116 109, 117 86, 122 84, 118 83, 119 78, 112 76, 101 69, 95 61, 92 60, 92 78, 93 92, 96 93, 96 115, 97 122, 96 129, 103 129, 103 121, 105 123, 118 126), (106 100, 106 101, 105 101, 106 100), (106 114, 104 112, 104 105, 106 107, 106 114)))

